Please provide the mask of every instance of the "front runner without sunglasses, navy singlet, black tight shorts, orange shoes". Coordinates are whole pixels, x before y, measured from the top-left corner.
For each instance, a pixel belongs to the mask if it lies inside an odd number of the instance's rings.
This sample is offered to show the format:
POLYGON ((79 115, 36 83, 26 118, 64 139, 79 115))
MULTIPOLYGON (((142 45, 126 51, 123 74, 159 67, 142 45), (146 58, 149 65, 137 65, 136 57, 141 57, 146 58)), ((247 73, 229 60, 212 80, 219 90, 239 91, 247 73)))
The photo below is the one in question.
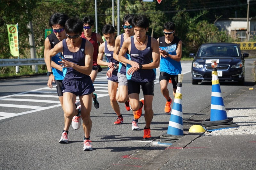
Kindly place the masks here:
POLYGON ((153 119, 152 102, 154 96, 154 69, 159 66, 160 53, 156 39, 146 35, 149 20, 145 16, 137 16, 132 20, 135 35, 126 39, 120 49, 118 59, 127 65, 128 96, 133 110, 132 130, 139 130, 138 119, 144 107, 146 125, 144 139, 150 139, 150 124, 153 119), (124 55, 129 51, 130 60, 124 55), (139 100, 140 86, 142 87, 143 99, 139 100))

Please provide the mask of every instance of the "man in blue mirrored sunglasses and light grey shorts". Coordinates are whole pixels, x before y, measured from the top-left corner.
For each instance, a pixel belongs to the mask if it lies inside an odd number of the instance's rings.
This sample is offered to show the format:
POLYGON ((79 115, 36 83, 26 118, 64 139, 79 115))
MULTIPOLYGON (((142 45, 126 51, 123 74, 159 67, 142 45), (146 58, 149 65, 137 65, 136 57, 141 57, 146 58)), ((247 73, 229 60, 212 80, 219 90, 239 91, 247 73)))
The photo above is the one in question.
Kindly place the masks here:
MULTIPOLYGON (((134 15, 132 14, 127 14, 123 18, 123 28, 124 28, 124 33, 121 35, 118 35, 116 37, 116 43, 115 43, 115 49, 114 49, 114 54, 113 57, 115 60, 118 60, 118 53, 120 48, 122 48, 123 42, 126 38, 130 38, 131 36, 134 35, 134 28, 131 25, 132 24, 132 19, 134 18, 134 15)), ((128 53, 125 54, 125 57, 129 55, 128 53)), ((120 62, 120 61, 119 61, 120 62)), ((125 108, 127 111, 130 111, 130 103, 128 100, 128 87, 127 87, 127 78, 126 78, 126 63, 119 63, 119 68, 118 68, 118 92, 116 95, 116 100, 120 103, 125 104, 125 108)), ((123 116, 121 115, 119 117, 120 122, 123 122, 123 116)), ((118 124, 118 123, 115 123, 118 124)))

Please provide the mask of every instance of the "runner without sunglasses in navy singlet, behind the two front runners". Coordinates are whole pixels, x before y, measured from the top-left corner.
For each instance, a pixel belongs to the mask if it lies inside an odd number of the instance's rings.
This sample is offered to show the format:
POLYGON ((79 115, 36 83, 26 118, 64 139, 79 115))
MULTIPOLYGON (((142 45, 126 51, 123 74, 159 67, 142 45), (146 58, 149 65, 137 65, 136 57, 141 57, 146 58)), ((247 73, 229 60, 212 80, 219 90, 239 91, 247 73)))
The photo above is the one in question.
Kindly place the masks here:
POLYGON ((120 113, 120 107, 116 101, 116 92, 118 87, 118 66, 119 62, 113 58, 115 48, 115 28, 111 25, 105 25, 102 28, 102 33, 105 38, 105 43, 99 47, 99 55, 97 63, 102 66, 108 66, 107 79, 108 79, 108 95, 110 104, 116 115, 118 116, 114 124, 122 124, 124 122, 123 116, 120 113), (103 55, 105 54, 107 62, 103 62, 103 55))

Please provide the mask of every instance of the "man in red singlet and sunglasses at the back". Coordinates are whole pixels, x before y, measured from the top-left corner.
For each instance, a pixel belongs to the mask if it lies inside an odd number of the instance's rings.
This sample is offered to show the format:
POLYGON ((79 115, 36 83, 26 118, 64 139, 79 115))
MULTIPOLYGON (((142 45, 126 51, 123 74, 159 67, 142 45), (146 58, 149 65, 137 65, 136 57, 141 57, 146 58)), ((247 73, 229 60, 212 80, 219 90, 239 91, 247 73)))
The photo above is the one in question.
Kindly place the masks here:
MULTIPOLYGON (((94 20, 91 17, 84 17, 83 18, 84 31, 81 34, 81 37, 90 41, 94 48, 92 73, 90 74, 90 77, 92 78, 92 83, 94 82, 95 78, 97 77, 98 72, 102 71, 102 68, 97 63, 98 54, 99 54, 98 42, 100 42, 100 44, 102 44, 104 42, 99 33, 92 32, 93 24, 94 24, 94 20)), ((99 108, 100 104, 97 100, 96 93, 92 93, 92 100, 93 100, 93 106, 96 109, 99 108)))

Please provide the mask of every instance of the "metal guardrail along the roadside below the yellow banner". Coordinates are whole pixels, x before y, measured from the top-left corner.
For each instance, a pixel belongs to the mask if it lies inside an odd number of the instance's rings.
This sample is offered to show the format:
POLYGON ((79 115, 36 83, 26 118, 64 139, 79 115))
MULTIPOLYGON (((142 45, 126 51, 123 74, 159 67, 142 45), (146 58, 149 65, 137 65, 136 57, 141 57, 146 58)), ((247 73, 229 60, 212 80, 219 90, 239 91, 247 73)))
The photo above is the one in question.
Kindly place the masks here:
POLYGON ((0 59, 0 67, 44 64, 44 58, 0 59))

